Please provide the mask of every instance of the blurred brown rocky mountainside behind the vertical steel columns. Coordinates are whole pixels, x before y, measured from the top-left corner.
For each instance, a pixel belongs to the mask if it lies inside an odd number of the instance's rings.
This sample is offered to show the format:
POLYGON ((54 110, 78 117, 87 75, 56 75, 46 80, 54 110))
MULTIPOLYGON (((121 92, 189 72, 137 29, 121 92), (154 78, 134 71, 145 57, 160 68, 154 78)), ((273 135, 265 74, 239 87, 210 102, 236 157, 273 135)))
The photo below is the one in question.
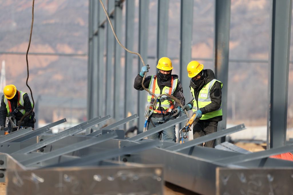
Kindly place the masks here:
MULTIPOLYGON (((179 58, 180 1, 170 0, 169 6, 168 56, 179 58)), ((156 52, 156 31, 152 29, 156 29, 157 9, 157 1, 151 0, 149 56, 155 56, 156 52)), ((26 53, 31 20, 32 1, 0 0, 0 52, 26 53)), ((135 28, 137 27, 136 23, 135 28)), ((224 85, 228 87, 229 93, 228 120, 265 124, 268 107, 270 1, 232 0, 230 28, 229 83, 224 85), (261 62, 249 63, 244 60, 261 62)), ((213 34, 214 0, 195 0, 192 57, 199 59, 198 61, 202 62, 205 68, 210 69, 214 69, 212 61, 209 60, 213 57, 213 34)), ((138 40, 134 42, 134 51, 137 51, 137 44, 138 40)), ((87 51, 88 1, 35 1, 29 53, 86 54, 87 51)), ((292 52, 290 54, 292 61, 292 52)), ((29 93, 25 84, 27 78, 25 54, 0 54, 0 61, 2 60, 6 63, 6 84, 13 83, 29 93)), ((34 97, 38 95, 64 97, 64 101, 70 97, 86 101, 86 56, 29 55, 28 62, 28 84, 33 90, 34 97)), ((178 61, 174 60, 174 65, 176 63, 178 64, 178 61)), ((290 64, 288 126, 293 126, 290 122, 293 121, 292 84, 293 67, 290 64)))

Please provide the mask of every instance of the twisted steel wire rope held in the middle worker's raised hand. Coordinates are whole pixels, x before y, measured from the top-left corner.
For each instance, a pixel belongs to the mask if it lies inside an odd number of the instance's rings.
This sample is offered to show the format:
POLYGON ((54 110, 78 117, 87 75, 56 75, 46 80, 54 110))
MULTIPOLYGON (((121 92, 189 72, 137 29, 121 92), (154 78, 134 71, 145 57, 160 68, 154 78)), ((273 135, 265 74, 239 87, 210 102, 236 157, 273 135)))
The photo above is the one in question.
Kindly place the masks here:
MULTIPOLYGON (((102 7, 103 7, 103 10, 104 10, 104 12, 105 12, 107 18, 108 18, 108 21, 109 21, 109 23, 110 23, 110 26, 111 26, 111 29, 112 29, 112 31, 113 31, 113 34, 114 34, 114 36, 115 36, 117 42, 119 43, 119 45, 120 45, 123 49, 125 49, 127 52, 132 53, 132 54, 137 54, 137 55, 139 56, 140 60, 142 61, 142 64, 145 66, 145 64, 144 64, 144 60, 142 59, 142 56, 141 56, 139 53, 137 53, 137 52, 132 52, 132 51, 130 51, 129 49, 127 49, 126 47, 124 47, 124 46, 121 44, 121 42, 119 41, 119 39, 118 39, 118 37, 117 37, 117 35, 116 35, 116 33, 115 33, 115 30, 114 30, 114 28, 113 28, 113 25, 112 25, 112 23, 111 23, 111 20, 110 20, 110 18, 109 18, 109 15, 108 15, 108 13, 107 13, 107 11, 106 11, 106 9, 105 9, 105 6, 104 6, 102 0, 100 0, 100 3, 101 3, 101 5, 102 5, 102 7)), ((154 95, 154 97, 155 97, 155 101, 154 101, 153 106, 152 106, 153 109, 156 108, 156 105, 157 105, 157 99, 158 99, 159 97, 163 96, 163 95, 166 95, 166 96, 168 96, 169 98, 171 98, 172 100, 176 101, 176 102, 180 105, 180 107, 183 107, 183 106, 184 106, 184 105, 182 105, 182 103, 181 103, 177 98, 175 98, 173 95, 169 95, 169 94, 161 94, 161 95, 159 95, 159 96, 156 96, 156 95, 155 95, 154 93, 152 93, 150 90, 148 90, 147 88, 145 88, 145 87, 144 87, 144 80, 145 80, 146 76, 147 76, 147 74, 144 73, 144 77, 142 78, 142 88, 144 88, 144 90, 146 90, 146 91, 149 92, 150 94, 154 95)), ((186 110, 184 110, 184 111, 185 111, 185 113, 186 113, 187 116, 188 116, 187 111, 186 111, 186 110)), ((189 116, 188 116, 188 118, 189 118, 189 116)), ((188 123, 188 121, 189 121, 189 119, 185 122, 185 125, 188 123)), ((184 131, 183 131, 183 132, 184 132, 184 131)))

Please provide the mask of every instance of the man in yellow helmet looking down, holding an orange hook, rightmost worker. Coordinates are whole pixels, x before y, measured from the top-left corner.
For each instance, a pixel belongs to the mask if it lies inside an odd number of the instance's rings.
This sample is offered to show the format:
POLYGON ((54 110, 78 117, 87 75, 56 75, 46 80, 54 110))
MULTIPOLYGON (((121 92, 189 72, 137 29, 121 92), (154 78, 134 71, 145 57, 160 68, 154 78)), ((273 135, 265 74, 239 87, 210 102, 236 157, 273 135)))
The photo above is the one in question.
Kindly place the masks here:
MULTIPOLYGON (((193 110, 195 121, 193 122, 193 138, 198 138, 217 131, 218 122, 222 121, 222 82, 215 79, 214 72, 203 69, 203 64, 191 61, 187 65, 188 77, 191 78, 190 90, 193 99, 181 108, 193 110)), ((214 148, 215 141, 205 142, 205 147, 214 148)), ((200 144, 198 146, 203 146, 200 144)))

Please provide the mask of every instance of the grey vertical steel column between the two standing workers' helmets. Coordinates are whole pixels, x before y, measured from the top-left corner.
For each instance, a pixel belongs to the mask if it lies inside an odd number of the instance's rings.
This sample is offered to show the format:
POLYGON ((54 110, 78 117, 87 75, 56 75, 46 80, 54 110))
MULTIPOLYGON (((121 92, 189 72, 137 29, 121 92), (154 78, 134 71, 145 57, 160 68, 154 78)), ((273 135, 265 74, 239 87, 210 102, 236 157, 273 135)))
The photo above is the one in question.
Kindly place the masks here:
MULTIPOLYGON (((193 0, 181 0, 180 9, 180 83, 183 88, 185 101, 189 102, 192 96, 189 89, 190 78, 187 76, 187 64, 191 61, 192 27, 193 27, 193 0)), ((184 123, 180 123, 180 128, 184 123)))

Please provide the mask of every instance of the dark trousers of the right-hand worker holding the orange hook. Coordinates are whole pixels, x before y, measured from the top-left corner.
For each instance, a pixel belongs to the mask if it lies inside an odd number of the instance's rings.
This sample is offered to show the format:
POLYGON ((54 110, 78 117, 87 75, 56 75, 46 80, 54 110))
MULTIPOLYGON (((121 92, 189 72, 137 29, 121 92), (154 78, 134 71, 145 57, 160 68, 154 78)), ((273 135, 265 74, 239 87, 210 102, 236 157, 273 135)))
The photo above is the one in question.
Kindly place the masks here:
MULTIPOLYGON (((217 132, 218 122, 215 121, 201 121, 195 122, 193 124, 193 139, 199 138, 205 135, 212 134, 217 132)), ((205 142, 204 147, 214 148, 216 140, 211 140, 205 142)), ((203 144, 199 144, 197 146, 203 146, 203 144)))

